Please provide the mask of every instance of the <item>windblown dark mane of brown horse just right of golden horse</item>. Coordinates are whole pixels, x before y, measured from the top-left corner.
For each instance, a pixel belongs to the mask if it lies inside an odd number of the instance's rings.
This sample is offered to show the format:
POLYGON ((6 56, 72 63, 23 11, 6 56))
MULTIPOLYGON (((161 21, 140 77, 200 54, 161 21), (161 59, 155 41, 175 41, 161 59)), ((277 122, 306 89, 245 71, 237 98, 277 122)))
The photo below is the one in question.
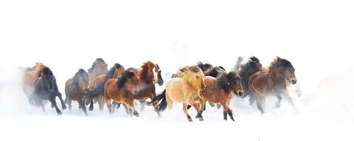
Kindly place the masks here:
POLYGON ((225 93, 229 91, 230 88, 230 80, 234 80, 239 77, 235 72, 230 72, 229 74, 226 73, 225 70, 219 69, 218 75, 216 77, 216 87, 219 89, 223 89, 225 93))

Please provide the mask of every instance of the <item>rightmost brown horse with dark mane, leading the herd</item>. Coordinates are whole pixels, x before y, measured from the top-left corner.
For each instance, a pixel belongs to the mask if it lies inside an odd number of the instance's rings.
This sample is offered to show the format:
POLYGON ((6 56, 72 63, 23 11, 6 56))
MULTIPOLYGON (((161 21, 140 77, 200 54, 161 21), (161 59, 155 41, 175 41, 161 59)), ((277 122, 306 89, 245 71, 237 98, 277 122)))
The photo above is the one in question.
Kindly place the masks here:
POLYGON ((293 110, 298 112, 287 90, 288 82, 296 84, 297 80, 294 72, 295 69, 290 61, 277 57, 269 65, 268 72, 257 72, 250 77, 248 87, 255 98, 257 108, 261 114, 264 113, 262 105, 264 104, 265 97, 277 97, 278 101, 275 107, 279 108, 282 95, 290 103, 293 110))

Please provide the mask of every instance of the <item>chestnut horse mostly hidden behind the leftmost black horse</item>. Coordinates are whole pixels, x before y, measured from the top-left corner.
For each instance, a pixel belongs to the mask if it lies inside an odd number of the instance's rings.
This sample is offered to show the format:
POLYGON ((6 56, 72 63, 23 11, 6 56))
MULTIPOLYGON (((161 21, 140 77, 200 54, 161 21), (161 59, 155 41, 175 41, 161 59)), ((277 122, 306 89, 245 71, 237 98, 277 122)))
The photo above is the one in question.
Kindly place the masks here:
POLYGON ((47 67, 41 62, 36 62, 35 66, 32 68, 27 68, 29 70, 25 72, 22 76, 22 88, 26 96, 29 96, 34 90, 34 82, 41 77, 40 70, 43 67, 47 67), (34 69, 33 69, 34 68, 34 69))

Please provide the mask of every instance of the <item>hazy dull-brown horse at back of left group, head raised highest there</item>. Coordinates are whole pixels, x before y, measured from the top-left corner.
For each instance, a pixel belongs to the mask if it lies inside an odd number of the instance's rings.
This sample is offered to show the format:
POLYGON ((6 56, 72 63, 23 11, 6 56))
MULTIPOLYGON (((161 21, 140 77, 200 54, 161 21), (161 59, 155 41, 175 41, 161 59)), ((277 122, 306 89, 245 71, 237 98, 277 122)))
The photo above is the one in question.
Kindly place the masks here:
MULTIPOLYGON (((104 75, 107 73, 108 69, 107 69, 107 63, 105 62, 105 60, 103 60, 102 58, 97 58, 94 63, 92 64, 91 68, 89 68, 89 70, 87 70, 87 73, 89 74, 89 87, 90 88, 94 88, 93 86, 93 81, 97 76, 100 75, 104 75)), ((98 104, 100 106, 100 110, 103 110, 103 97, 99 96, 98 97, 98 104)), ((92 111, 94 110, 94 101, 91 101, 89 110, 92 111)))

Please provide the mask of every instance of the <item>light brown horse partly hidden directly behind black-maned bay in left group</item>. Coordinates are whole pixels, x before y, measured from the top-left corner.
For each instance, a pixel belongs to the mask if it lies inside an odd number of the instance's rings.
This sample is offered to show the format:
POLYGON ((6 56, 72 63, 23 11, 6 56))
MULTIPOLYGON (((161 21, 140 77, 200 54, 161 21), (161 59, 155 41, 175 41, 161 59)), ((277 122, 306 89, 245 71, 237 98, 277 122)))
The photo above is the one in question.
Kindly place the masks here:
MULTIPOLYGON (((96 88, 99 86, 101 83, 106 83, 108 79, 116 79, 121 76, 121 73, 125 70, 124 66, 120 65, 119 63, 115 63, 114 66, 112 66, 109 71, 106 73, 106 75, 100 75, 97 76, 94 81, 92 82, 93 87, 91 88, 96 88)), ((97 98, 98 105, 100 107, 100 110, 103 110, 104 106, 104 99, 101 95, 99 95, 97 98)), ((89 110, 92 111, 94 110, 94 103, 93 101, 90 104, 89 110)))

